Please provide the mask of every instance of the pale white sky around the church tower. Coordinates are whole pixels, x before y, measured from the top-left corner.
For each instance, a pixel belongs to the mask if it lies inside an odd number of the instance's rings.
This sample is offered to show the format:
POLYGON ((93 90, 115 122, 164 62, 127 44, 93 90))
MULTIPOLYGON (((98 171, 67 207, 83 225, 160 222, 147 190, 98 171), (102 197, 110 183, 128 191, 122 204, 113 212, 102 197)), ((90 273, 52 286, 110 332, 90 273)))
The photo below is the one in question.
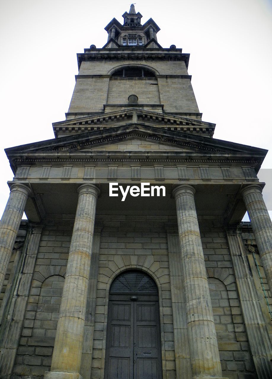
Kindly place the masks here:
MULTIPOLYGON (((126 1, 0 1, 0 215, 13 179, 4 148, 54 138, 65 119, 76 53, 107 42, 104 27, 126 1)), ((159 25, 162 47, 190 53, 189 74, 214 138, 270 149, 260 180, 272 191, 272 0, 139 0, 136 12, 159 25)), ((271 196, 266 196, 272 210, 271 196)), ((271 213, 270 213, 271 215, 271 213)))

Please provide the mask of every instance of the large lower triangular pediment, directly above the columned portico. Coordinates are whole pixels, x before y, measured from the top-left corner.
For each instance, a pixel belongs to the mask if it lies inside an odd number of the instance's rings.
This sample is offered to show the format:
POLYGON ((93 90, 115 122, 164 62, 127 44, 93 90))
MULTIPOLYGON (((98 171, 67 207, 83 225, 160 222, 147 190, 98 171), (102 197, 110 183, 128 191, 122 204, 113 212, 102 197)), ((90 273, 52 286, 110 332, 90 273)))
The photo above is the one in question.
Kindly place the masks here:
POLYGON ((258 172, 267 150, 160 127, 129 124, 11 147, 5 152, 13 172, 22 164, 80 164, 87 161, 102 162, 103 165, 113 161, 122 164, 163 161, 174 165, 190 162, 213 167, 251 164, 258 172))

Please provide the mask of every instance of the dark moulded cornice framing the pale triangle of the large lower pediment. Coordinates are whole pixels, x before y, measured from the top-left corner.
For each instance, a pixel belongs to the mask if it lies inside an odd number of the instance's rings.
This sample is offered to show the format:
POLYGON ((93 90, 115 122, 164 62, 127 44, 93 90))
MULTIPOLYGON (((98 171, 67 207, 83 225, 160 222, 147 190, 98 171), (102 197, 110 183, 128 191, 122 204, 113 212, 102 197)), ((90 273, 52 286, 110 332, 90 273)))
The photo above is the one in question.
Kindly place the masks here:
POLYGON ((64 136, 62 138, 50 139, 37 143, 11 147, 5 149, 10 161, 22 159, 155 159, 182 161, 196 161, 198 163, 232 161, 237 164, 243 161, 252 161, 258 166, 263 161, 267 150, 257 147, 246 146, 218 139, 210 139, 198 135, 178 133, 154 126, 130 124, 118 127, 97 130, 92 133, 81 133, 64 136), (131 139, 144 139, 147 143, 171 146, 165 151, 143 150, 143 151, 120 151, 117 148, 110 151, 105 146, 118 144, 131 139), (99 146, 104 146, 100 151, 99 146), (93 148, 95 147, 95 151, 93 148), (175 147, 175 149, 173 149, 175 147))

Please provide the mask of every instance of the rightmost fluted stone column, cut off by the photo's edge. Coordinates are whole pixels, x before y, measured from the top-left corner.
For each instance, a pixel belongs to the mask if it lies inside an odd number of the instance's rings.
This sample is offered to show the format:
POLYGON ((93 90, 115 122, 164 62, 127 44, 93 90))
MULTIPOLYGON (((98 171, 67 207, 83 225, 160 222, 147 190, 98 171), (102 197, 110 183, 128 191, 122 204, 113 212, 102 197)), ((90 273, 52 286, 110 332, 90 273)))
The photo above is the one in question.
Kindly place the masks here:
POLYGON ((264 273, 272 291, 272 222, 264 203, 262 188, 257 184, 248 185, 242 190, 242 196, 256 238, 264 273))

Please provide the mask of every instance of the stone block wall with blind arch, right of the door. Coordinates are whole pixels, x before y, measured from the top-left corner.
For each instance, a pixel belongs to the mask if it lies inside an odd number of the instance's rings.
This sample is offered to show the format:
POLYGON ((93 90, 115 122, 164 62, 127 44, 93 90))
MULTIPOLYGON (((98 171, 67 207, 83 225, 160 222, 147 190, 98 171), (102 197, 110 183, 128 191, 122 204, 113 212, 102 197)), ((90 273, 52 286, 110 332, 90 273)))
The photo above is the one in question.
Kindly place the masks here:
POLYGON ((201 240, 223 376, 229 379, 254 379, 256 373, 225 232, 220 227, 202 227, 201 240))

